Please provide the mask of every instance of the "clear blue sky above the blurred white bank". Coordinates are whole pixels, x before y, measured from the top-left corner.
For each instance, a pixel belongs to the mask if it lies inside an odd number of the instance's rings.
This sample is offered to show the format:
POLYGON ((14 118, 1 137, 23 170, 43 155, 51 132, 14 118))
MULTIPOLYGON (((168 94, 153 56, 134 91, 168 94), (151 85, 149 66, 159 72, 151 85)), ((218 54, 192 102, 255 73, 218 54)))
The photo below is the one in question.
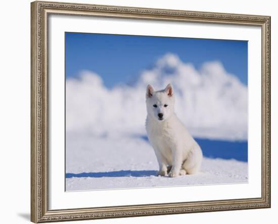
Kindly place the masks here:
POLYGON ((102 76, 107 87, 128 83, 166 53, 179 56, 197 69, 204 62, 220 61, 247 85, 248 42, 176 37, 65 33, 66 77, 81 70, 102 76))

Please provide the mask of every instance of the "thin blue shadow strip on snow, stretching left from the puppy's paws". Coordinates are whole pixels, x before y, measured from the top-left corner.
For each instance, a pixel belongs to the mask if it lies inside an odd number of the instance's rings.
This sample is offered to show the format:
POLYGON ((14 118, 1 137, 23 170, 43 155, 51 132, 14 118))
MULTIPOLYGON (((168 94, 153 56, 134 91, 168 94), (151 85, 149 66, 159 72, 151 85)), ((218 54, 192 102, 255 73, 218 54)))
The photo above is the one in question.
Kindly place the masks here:
POLYGON ((71 177, 142 177, 142 176, 155 176, 157 170, 119 170, 109 172, 82 172, 82 173, 66 173, 66 178, 71 177))

